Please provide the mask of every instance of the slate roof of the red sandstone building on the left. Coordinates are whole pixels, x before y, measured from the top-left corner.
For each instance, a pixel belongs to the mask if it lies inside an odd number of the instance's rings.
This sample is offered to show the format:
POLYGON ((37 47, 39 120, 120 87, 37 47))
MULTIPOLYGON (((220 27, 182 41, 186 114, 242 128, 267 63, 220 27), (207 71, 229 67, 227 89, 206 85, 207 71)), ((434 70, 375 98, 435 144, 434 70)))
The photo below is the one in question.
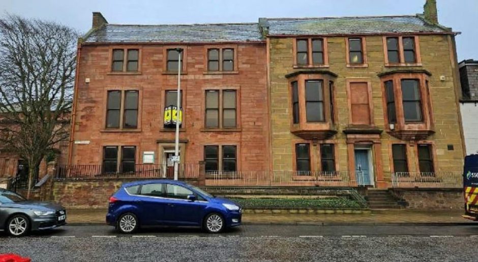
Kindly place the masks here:
POLYGON ((84 43, 263 41, 258 23, 224 24, 106 24, 86 37, 84 43))

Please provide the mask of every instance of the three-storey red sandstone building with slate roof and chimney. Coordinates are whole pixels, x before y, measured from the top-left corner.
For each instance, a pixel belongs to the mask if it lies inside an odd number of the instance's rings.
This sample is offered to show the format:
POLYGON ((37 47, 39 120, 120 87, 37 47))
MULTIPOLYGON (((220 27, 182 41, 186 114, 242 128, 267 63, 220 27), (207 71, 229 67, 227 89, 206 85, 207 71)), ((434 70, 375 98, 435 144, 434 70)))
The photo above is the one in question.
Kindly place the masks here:
POLYGON ((175 129, 164 110, 176 105, 178 47, 180 177, 202 161, 218 173, 268 169, 266 43, 257 23, 117 25, 100 13, 78 45, 70 167, 172 175, 175 129))

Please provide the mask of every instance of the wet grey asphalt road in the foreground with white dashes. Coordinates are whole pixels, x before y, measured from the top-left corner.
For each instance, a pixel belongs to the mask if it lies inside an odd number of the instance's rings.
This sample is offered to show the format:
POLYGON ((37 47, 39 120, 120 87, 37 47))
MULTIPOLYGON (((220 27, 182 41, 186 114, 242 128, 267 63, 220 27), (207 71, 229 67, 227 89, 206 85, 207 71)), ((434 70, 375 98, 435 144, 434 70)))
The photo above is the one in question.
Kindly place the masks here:
POLYGON ((118 235, 103 225, 0 237, 0 253, 33 261, 476 261, 477 225, 245 225, 220 235, 157 228, 118 235))

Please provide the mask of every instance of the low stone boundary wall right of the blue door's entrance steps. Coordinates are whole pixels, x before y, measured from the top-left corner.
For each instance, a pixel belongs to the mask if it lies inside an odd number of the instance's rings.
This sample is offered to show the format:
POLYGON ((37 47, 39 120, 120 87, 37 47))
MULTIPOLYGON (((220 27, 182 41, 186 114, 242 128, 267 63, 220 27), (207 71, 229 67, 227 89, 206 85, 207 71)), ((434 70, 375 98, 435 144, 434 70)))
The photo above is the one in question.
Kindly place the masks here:
POLYGON ((405 201, 407 209, 463 209, 463 189, 394 188, 395 197, 405 201))

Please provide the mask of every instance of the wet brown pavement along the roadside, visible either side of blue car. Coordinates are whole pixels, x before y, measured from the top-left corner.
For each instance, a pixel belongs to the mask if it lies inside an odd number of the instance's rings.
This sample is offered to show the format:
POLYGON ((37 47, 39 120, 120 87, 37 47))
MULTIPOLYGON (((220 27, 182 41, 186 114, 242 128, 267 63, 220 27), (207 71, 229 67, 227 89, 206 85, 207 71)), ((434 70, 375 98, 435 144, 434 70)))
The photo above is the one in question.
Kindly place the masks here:
MULTIPOLYGON (((67 210, 69 224, 104 224, 107 210, 67 210)), ((370 214, 243 214, 244 224, 457 223, 469 224, 462 210, 372 210, 370 214)))

